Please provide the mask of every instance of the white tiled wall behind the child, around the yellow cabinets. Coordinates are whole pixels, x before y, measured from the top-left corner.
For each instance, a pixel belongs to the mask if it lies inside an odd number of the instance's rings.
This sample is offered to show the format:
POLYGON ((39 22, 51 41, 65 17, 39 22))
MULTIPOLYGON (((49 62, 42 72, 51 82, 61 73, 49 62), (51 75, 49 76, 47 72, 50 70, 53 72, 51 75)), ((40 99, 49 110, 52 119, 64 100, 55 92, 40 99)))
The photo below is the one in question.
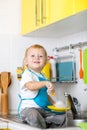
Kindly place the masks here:
MULTIPOLYGON (((79 32, 59 39, 34 38, 21 36, 21 0, 0 1, 0 72, 10 71, 12 82, 8 88, 9 111, 17 112, 19 83, 16 79, 16 68, 21 66, 25 49, 31 44, 43 45, 48 55, 53 55, 53 48, 87 41, 87 31, 79 32)), ((77 77, 79 70, 79 50, 74 50, 77 62, 77 77)), ((64 92, 69 92, 79 99, 82 110, 87 110, 87 92, 84 91, 87 85, 78 78, 77 84, 56 84, 57 99, 64 98, 64 92), (61 96, 61 94, 63 94, 61 96)))

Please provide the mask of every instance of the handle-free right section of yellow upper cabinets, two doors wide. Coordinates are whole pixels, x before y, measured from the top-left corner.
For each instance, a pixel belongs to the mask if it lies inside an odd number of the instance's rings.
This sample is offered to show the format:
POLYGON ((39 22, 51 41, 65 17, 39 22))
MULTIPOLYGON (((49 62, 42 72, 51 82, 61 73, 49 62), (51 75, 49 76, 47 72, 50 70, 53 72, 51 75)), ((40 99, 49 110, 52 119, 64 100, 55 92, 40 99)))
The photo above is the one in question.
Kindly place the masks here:
POLYGON ((87 0, 50 0, 50 23, 87 9, 87 0))

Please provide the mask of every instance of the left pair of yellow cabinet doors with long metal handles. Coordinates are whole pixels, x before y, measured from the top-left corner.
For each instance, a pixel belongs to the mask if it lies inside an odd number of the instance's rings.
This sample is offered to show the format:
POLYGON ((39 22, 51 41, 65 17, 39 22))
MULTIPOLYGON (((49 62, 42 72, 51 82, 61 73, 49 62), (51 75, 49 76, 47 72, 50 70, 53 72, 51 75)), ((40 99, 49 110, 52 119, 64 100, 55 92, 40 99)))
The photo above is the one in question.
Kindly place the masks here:
POLYGON ((22 34, 49 23, 50 0, 22 0, 22 34))

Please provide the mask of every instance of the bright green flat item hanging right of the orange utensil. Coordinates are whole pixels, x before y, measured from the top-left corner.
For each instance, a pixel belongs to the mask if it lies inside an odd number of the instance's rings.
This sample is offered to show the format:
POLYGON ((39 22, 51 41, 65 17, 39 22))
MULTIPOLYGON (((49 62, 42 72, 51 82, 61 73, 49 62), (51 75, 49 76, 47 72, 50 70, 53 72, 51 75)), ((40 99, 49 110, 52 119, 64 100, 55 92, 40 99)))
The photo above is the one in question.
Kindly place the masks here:
POLYGON ((83 50, 84 83, 87 84, 87 48, 83 50))

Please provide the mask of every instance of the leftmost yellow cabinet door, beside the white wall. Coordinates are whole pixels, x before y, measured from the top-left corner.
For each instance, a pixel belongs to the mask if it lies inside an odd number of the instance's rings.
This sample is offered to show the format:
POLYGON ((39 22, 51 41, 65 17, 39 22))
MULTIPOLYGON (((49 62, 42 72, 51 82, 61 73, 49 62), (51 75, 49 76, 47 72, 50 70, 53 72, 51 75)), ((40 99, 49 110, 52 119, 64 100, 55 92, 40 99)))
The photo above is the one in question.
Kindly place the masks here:
POLYGON ((35 0, 22 0, 22 34, 36 27, 35 0))

